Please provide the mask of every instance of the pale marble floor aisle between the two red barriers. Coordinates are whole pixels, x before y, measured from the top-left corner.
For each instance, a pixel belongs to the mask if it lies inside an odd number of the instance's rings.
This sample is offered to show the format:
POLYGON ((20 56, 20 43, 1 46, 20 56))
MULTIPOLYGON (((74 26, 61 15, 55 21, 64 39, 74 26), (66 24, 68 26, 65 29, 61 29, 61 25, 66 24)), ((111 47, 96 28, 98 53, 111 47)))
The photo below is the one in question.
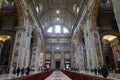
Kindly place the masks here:
POLYGON ((54 71, 49 77, 47 77, 45 80, 72 80, 68 76, 66 76, 61 71, 54 71))

